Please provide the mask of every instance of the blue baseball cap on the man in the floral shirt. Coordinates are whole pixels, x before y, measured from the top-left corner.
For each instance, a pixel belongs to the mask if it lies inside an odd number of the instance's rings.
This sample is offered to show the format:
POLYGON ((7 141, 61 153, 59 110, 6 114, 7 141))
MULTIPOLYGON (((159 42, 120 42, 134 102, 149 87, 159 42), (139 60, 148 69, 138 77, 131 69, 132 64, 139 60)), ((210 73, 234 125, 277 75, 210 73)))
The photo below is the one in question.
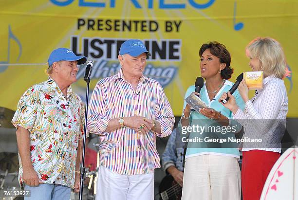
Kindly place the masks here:
POLYGON ((77 64, 82 65, 87 61, 87 58, 85 56, 75 55, 75 53, 70 49, 58 48, 58 49, 55 49, 49 56, 49 59, 48 59, 49 67, 53 65, 54 62, 59 62, 62 60, 65 60, 65 61, 77 60, 77 64))

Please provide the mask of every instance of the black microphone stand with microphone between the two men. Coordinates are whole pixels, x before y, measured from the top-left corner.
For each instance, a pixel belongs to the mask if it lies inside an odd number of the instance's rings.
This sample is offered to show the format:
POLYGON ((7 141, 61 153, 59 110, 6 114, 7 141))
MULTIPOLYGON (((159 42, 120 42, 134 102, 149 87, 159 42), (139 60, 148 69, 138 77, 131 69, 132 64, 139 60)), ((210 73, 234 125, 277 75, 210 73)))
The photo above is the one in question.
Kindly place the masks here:
POLYGON ((88 74, 85 75, 84 80, 87 83, 87 90, 86 90, 86 109, 85 109, 85 124, 84 124, 84 139, 83 139, 83 154, 82 154, 82 165, 80 167, 81 172, 81 179, 80 179, 80 193, 79 193, 79 200, 83 200, 83 183, 84 183, 84 176, 85 176, 85 147, 86 147, 86 132, 87 132, 87 116, 88 116, 88 99, 89 99, 89 83, 90 77, 88 74))

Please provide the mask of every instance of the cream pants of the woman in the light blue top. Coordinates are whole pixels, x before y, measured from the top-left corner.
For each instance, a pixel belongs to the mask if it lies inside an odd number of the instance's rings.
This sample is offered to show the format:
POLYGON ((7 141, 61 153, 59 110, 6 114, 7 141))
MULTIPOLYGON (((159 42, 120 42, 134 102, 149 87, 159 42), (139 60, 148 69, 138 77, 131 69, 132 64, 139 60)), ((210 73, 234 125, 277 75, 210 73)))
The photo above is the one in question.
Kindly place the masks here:
POLYGON ((182 200, 240 200, 237 158, 200 155, 186 159, 182 200))

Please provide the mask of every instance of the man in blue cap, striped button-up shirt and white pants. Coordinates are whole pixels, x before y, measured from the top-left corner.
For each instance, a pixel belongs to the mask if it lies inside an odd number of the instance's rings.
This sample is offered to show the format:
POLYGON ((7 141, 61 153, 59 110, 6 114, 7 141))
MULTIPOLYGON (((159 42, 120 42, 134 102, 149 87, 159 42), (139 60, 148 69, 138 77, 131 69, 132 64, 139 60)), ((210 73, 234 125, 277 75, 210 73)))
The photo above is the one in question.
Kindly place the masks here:
POLYGON ((121 70, 93 90, 87 126, 100 136, 96 200, 153 199, 156 136, 168 136, 175 119, 162 86, 143 75, 148 55, 142 41, 125 41, 121 70))

